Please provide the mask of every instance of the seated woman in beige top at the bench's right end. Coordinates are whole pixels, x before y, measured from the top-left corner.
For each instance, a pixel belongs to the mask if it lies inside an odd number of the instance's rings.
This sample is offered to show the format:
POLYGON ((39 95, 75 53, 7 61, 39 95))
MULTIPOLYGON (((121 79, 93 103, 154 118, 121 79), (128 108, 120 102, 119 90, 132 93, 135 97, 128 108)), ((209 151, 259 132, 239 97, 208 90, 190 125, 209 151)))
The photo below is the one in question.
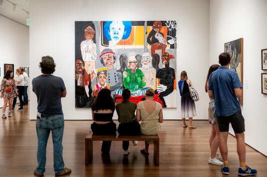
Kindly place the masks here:
MULTIPOLYGON (((137 104, 136 120, 141 122, 141 133, 145 135, 155 135, 159 133, 160 125, 163 121, 161 105, 153 101, 154 90, 148 89, 145 92, 145 101, 137 104)), ((141 149, 141 153, 148 155, 148 147, 150 142, 145 141, 145 148, 141 149)))

